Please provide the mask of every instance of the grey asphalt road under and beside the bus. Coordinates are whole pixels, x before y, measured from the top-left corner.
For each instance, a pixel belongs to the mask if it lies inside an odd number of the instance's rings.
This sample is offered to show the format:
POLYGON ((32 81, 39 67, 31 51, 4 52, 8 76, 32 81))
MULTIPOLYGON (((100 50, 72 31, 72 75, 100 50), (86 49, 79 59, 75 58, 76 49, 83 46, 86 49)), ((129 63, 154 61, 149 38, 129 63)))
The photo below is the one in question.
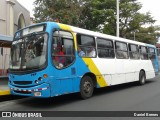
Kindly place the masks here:
POLYGON ((87 100, 70 94, 3 101, 0 111, 160 111, 160 75, 147 80, 143 86, 127 83, 96 89, 94 96, 87 100))

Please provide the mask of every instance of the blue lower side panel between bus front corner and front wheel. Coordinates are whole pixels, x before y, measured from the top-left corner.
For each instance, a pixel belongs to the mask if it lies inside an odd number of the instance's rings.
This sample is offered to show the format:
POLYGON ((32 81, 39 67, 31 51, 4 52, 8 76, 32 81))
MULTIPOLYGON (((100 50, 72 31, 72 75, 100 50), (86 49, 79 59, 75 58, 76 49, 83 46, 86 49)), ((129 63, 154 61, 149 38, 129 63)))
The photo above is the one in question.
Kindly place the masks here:
POLYGON ((49 70, 52 74, 51 76, 54 76, 51 80, 52 96, 79 92, 82 77, 85 73, 90 72, 80 57, 77 57, 75 63, 67 68, 58 70, 51 66, 49 70))

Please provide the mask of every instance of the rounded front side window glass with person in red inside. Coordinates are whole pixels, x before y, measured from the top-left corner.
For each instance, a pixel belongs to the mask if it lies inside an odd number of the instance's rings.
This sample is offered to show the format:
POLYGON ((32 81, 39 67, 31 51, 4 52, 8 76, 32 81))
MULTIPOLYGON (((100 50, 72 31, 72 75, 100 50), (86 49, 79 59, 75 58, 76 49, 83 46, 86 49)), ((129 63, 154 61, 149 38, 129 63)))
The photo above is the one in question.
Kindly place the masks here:
POLYGON ((55 31, 52 39, 52 61, 57 69, 71 65, 75 60, 74 40, 70 32, 55 31))

